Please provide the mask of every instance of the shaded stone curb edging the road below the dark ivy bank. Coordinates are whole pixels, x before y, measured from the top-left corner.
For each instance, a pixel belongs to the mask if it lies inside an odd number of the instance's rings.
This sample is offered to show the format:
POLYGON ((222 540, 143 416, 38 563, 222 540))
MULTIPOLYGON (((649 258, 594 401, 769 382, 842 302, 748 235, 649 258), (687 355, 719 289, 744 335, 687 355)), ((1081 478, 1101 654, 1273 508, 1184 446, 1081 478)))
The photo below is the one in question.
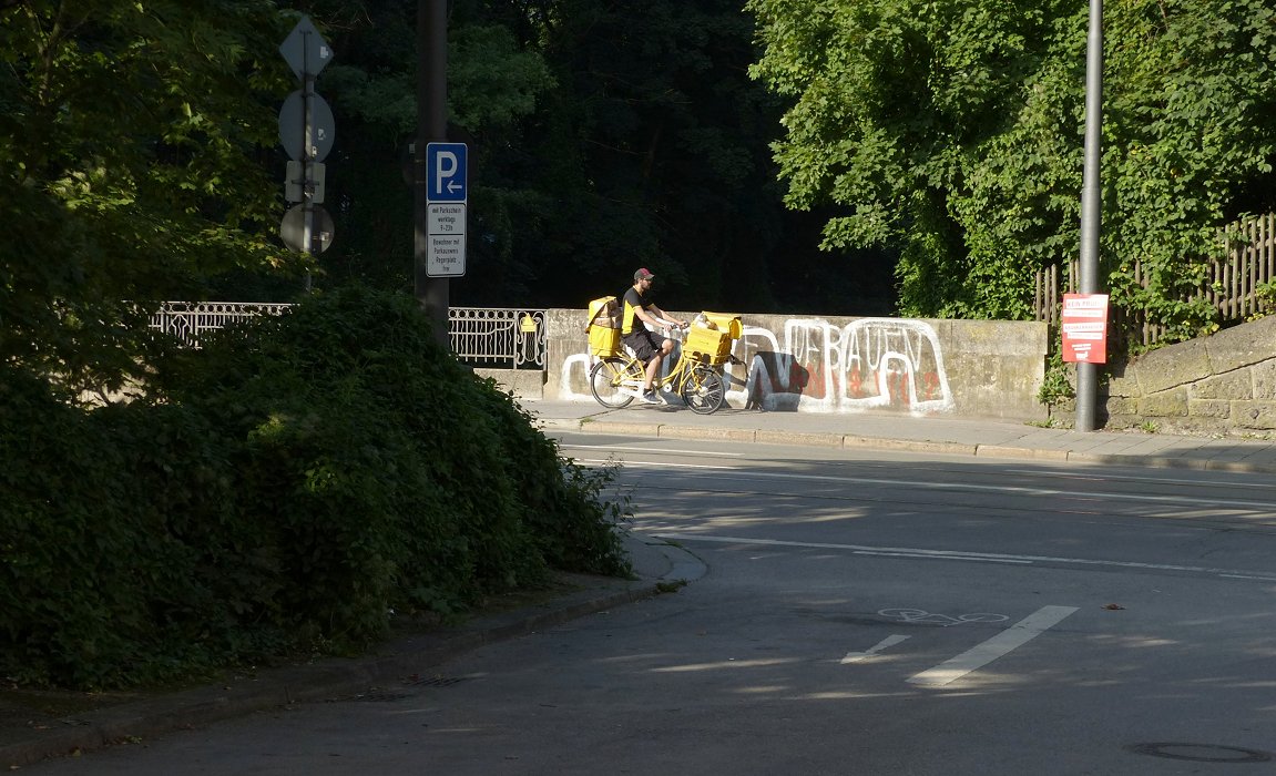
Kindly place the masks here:
POLYGON ((79 715, 77 726, 45 731, 27 740, 0 744, 0 767, 15 770, 41 761, 151 739, 197 725, 207 725, 297 702, 360 696, 370 688, 402 684, 427 669, 477 647, 528 636, 563 623, 670 592, 670 582, 685 583, 706 573, 689 551, 666 541, 644 541, 666 555, 669 571, 656 579, 625 582, 602 577, 602 586, 568 593, 541 606, 489 615, 447 634, 404 637, 383 651, 353 659, 324 659, 308 665, 268 669, 231 684, 170 693, 145 701, 105 707, 79 715))

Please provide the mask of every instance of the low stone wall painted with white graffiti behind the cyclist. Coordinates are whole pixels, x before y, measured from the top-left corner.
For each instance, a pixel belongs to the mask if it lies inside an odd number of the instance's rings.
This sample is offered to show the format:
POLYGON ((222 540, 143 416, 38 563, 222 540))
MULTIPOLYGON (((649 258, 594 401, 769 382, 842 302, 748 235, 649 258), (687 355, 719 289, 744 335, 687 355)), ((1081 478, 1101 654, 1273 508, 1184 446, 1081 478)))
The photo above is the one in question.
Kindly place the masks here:
MULTIPOLYGON (((674 313, 690 319, 693 313, 674 313)), ((544 397, 590 401, 584 310, 546 313, 544 397)), ((1045 420, 1044 323, 743 314, 734 407, 1045 420)))

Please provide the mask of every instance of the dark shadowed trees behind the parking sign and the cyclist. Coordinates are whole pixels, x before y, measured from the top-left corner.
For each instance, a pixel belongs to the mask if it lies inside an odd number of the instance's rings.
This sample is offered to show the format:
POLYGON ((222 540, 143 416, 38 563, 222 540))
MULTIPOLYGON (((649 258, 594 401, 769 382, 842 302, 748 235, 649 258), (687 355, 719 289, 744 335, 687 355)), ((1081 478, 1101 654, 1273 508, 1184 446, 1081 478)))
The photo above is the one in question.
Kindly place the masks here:
MULTIPOLYGON (((313 9, 337 50, 319 82, 338 124, 330 280, 411 285, 415 6, 313 9)), ((809 218, 780 204, 780 103, 748 78, 753 24, 734 0, 458 0, 448 29, 449 137, 471 161, 454 304, 575 306, 637 265, 661 272, 670 306, 859 294, 861 278, 804 260, 809 218)))

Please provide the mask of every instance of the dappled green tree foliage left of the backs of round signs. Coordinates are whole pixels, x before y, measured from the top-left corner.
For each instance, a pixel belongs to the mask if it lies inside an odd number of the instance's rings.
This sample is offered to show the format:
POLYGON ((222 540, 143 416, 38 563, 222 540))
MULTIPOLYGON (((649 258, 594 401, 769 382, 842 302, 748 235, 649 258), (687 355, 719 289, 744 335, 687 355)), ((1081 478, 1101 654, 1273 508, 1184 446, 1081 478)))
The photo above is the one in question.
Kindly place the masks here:
POLYGON ((0 3, 0 359, 117 387, 144 309, 282 268, 269 0, 0 3))

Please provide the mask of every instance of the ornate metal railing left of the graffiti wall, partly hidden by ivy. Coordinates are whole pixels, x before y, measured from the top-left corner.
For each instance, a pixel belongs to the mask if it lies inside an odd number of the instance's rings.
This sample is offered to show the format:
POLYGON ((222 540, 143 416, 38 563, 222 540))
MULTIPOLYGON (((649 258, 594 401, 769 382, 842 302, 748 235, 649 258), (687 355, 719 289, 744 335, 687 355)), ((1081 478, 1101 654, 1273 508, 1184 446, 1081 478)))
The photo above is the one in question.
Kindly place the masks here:
MULTIPOLYGON (((151 328, 199 347, 200 334, 255 315, 278 315, 291 305, 246 301, 166 301, 151 328)), ((545 369, 545 310, 452 308, 448 333, 457 360, 472 366, 545 369)))

